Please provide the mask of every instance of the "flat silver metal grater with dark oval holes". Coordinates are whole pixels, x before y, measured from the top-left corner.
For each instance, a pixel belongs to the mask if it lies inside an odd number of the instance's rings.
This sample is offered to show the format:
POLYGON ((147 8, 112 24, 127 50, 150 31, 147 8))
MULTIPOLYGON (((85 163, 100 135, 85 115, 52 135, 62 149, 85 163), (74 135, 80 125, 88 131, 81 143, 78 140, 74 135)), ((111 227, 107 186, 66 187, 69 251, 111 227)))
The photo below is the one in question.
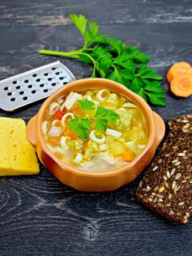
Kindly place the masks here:
POLYGON ((50 96, 72 80, 74 75, 60 61, 1 80, 0 108, 14 111, 50 96))

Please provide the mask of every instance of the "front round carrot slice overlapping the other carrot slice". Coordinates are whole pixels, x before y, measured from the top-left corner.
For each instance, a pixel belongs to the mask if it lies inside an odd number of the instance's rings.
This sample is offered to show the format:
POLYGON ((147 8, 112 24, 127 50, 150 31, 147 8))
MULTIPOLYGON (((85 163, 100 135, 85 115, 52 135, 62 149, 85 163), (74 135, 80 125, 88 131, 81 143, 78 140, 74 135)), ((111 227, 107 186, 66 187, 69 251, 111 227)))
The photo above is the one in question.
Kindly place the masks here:
POLYGON ((174 77, 170 89, 177 97, 187 98, 190 96, 192 94, 192 74, 185 73, 174 77))

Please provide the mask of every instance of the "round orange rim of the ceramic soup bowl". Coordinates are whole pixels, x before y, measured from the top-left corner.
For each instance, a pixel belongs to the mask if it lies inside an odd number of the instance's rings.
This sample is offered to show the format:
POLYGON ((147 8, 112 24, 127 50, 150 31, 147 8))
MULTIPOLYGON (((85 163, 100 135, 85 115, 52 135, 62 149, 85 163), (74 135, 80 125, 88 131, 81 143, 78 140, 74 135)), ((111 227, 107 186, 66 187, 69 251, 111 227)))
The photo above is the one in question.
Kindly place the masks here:
MULTIPOLYGON (((82 89, 80 89, 79 91, 82 91, 82 89)), ((132 167, 134 167, 134 165, 136 165, 137 162, 140 159, 142 159, 142 157, 144 157, 145 154, 147 154, 147 151, 151 148, 151 146, 153 146, 153 143, 155 140, 155 124, 154 124, 154 120, 153 120, 153 111, 150 108, 150 106, 147 104, 147 102, 145 102, 145 99, 142 99, 142 97, 140 97, 138 94, 135 94, 133 91, 127 89, 126 86, 123 86, 122 84, 120 84, 118 82, 115 82, 113 80, 108 80, 105 78, 82 78, 82 79, 74 80, 70 83, 67 83, 65 86, 62 86, 60 89, 58 89, 53 94, 51 94, 50 97, 48 97, 45 100, 45 102, 42 103, 42 105, 39 108, 39 111, 37 113, 36 127, 37 127, 37 140, 39 141, 40 146, 42 147, 42 151, 44 151, 51 159, 53 159, 53 161, 57 165, 59 165, 62 169, 67 170, 72 174, 76 174, 76 175, 78 174, 79 176, 92 176, 92 177, 93 176, 94 177, 116 176, 120 173, 123 173, 123 172, 127 171, 128 169, 131 169, 132 167), (45 140, 43 138, 43 135, 42 135, 42 130, 41 130, 42 118, 45 114, 45 111, 47 110, 47 107, 50 104, 50 102, 53 102, 53 99, 58 97, 58 94, 60 94, 63 91, 66 91, 67 89, 72 89, 73 87, 75 87, 74 91, 78 91, 76 86, 78 86, 82 83, 85 83, 85 89, 86 89, 86 87, 87 87, 87 89, 93 89, 96 86, 93 86, 91 88, 91 83, 96 83, 96 82, 108 83, 112 86, 115 86, 118 89, 120 89, 119 94, 123 94, 125 97, 128 97, 129 99, 131 99, 132 102, 137 101, 137 103, 139 103, 139 107, 140 108, 142 107, 142 112, 143 113, 145 112, 145 118, 147 116, 147 119, 148 119, 147 125, 150 128, 149 129, 149 131, 150 131, 149 138, 147 140, 147 144, 146 144, 145 148, 132 162, 129 162, 127 165, 123 165, 123 167, 120 167, 118 169, 109 170, 104 173, 94 173, 92 171, 76 169, 75 167, 71 167, 69 165, 66 165, 64 162, 61 162, 61 160, 59 160, 57 157, 55 157, 54 154, 47 147, 45 140), (88 85, 90 87, 88 87, 88 85), (121 93, 122 91, 123 91, 123 93, 121 93)))

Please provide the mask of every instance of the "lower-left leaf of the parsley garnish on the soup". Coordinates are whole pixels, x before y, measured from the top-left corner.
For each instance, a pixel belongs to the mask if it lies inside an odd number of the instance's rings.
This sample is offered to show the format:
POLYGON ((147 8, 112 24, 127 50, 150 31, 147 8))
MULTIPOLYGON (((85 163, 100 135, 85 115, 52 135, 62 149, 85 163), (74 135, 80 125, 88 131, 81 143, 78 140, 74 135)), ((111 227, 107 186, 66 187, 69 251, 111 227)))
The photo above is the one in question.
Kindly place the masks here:
POLYGON ((89 118, 72 118, 69 121, 69 130, 76 132, 77 136, 82 139, 88 138, 90 128, 91 121, 89 118))

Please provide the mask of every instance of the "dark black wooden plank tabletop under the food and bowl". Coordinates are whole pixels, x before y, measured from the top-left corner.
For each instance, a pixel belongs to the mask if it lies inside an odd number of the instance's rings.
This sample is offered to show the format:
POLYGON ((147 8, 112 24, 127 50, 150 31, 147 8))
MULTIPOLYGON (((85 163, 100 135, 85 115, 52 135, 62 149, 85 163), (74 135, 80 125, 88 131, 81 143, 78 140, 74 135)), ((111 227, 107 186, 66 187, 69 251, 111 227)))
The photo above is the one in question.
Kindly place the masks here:
MULTIPOLYGON (((150 66, 165 77, 176 61, 191 62, 191 0, 1 0, 0 79, 58 58, 38 49, 73 50, 82 38, 69 12, 96 20, 113 34, 152 56, 150 66)), ((91 67, 60 59, 76 78, 91 67)), ((192 63, 191 63, 192 64, 192 63)), ((175 99, 166 80, 164 121, 192 113, 191 98, 175 99)), ((15 113, 27 122, 42 102, 15 113)), ((137 203, 132 184, 106 193, 83 193, 60 184, 41 166, 39 176, 0 180, 0 255, 192 255, 192 222, 174 225, 137 203)))

